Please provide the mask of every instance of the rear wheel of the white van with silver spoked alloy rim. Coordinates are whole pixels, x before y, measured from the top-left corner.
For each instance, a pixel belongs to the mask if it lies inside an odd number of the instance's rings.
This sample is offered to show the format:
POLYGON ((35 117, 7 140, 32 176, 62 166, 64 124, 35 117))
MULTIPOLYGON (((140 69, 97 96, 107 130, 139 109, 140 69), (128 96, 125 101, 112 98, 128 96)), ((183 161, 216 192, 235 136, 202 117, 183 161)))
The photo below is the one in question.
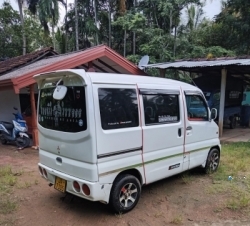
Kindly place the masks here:
POLYGON ((140 196, 139 180, 130 174, 122 174, 114 181, 109 204, 116 213, 126 213, 136 206, 140 196))

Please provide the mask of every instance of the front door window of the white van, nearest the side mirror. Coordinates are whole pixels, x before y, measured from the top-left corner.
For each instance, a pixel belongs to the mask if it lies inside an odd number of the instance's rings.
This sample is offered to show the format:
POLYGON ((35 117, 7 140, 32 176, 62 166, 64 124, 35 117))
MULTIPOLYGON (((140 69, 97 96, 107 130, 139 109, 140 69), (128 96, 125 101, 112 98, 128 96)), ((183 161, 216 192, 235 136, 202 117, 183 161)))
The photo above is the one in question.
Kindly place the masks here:
POLYGON ((208 109, 204 99, 199 95, 186 95, 189 121, 208 121, 208 109))

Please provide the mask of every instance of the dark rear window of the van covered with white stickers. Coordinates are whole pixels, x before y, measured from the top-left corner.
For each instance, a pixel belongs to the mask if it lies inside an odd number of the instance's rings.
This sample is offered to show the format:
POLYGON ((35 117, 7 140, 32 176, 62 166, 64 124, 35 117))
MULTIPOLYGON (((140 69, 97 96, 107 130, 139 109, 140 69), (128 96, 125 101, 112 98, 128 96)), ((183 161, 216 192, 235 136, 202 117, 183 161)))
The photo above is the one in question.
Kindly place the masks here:
POLYGON ((81 132, 87 129, 86 99, 83 86, 67 86, 65 97, 53 99, 55 87, 40 91, 39 124, 51 130, 63 132, 81 132))

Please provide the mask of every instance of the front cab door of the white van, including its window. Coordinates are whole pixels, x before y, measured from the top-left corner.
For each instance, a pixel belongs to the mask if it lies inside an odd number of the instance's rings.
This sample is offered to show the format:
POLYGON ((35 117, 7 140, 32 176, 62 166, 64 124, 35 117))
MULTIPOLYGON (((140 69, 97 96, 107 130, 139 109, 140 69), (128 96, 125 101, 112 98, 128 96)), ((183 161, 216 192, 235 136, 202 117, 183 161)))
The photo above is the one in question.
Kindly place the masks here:
POLYGON ((218 144, 218 127, 209 120, 210 110, 199 91, 184 90, 186 99, 185 155, 189 155, 189 169, 206 162, 210 148, 218 144))

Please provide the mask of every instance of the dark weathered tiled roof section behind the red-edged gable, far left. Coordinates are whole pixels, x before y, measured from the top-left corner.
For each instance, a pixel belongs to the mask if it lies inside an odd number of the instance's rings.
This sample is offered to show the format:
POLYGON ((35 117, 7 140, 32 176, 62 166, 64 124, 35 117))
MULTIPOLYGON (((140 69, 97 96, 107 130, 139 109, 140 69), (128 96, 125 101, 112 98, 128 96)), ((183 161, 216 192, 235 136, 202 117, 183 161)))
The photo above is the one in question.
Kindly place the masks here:
POLYGON ((45 56, 47 57, 53 55, 58 55, 58 53, 54 51, 53 47, 47 47, 32 53, 28 53, 26 55, 13 57, 5 61, 0 61, 0 76, 17 68, 33 63, 37 60, 40 60, 45 56))

